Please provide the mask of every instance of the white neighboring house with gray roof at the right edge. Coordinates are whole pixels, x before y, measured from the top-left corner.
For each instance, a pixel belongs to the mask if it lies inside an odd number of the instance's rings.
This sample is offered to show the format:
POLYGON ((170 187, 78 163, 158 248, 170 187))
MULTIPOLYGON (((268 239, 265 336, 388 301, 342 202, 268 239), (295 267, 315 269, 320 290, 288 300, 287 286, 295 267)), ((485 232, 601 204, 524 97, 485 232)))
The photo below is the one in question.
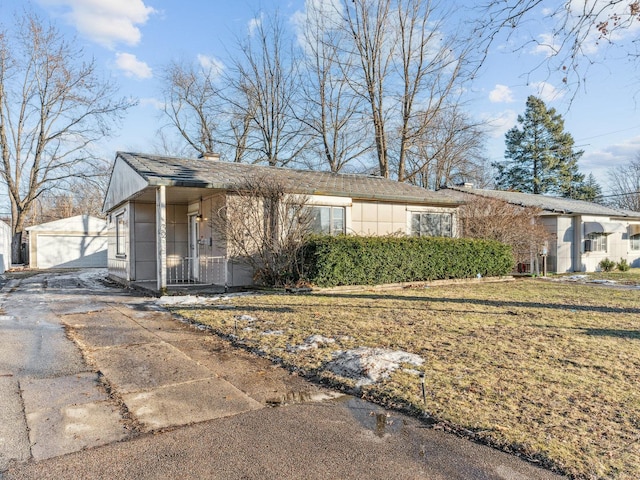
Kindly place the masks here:
MULTIPOLYGON (((542 223, 552 237, 546 246, 549 273, 593 272, 605 258, 616 262, 625 259, 631 266, 640 267, 640 212, 546 195, 475 189, 469 185, 441 192, 460 201, 482 196, 540 209, 542 223)), ((535 264, 535 259, 532 263, 535 264)))

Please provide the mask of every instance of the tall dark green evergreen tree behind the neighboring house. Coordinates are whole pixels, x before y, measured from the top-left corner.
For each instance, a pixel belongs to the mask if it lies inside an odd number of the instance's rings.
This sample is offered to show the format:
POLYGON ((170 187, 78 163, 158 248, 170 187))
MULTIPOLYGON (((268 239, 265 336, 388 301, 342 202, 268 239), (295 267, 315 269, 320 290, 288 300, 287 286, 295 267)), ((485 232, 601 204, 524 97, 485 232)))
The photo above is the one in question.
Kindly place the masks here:
POLYGON ((506 160, 493 164, 497 188, 585 198, 585 177, 578 171, 584 152, 574 149, 555 108, 547 109, 541 99, 530 96, 518 123, 505 135, 506 160))

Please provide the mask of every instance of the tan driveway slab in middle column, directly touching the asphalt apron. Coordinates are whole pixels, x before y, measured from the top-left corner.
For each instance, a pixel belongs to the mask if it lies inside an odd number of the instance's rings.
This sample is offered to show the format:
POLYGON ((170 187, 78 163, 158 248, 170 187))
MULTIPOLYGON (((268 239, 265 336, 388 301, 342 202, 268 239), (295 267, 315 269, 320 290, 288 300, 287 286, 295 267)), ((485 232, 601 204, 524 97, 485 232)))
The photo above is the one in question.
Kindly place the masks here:
POLYGON ((204 422, 264 407, 216 378, 130 393, 122 400, 145 430, 204 422))

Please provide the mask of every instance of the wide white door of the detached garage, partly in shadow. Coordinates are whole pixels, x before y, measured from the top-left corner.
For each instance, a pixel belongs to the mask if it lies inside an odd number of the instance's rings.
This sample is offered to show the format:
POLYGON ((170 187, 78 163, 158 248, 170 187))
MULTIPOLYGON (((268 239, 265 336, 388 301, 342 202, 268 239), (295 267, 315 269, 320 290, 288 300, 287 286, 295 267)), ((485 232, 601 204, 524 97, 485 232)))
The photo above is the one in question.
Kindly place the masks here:
POLYGON ((38 235, 38 268, 107 266, 107 237, 38 235))

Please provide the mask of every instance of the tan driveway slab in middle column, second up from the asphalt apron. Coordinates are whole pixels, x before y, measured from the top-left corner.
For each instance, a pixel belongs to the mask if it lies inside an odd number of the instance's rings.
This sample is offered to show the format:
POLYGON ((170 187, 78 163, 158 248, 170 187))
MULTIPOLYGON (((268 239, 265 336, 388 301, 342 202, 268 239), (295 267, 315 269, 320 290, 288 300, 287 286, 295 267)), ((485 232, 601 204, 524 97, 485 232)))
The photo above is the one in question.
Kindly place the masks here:
POLYGON ((121 394, 213 376, 165 342, 97 349, 89 355, 121 394))

